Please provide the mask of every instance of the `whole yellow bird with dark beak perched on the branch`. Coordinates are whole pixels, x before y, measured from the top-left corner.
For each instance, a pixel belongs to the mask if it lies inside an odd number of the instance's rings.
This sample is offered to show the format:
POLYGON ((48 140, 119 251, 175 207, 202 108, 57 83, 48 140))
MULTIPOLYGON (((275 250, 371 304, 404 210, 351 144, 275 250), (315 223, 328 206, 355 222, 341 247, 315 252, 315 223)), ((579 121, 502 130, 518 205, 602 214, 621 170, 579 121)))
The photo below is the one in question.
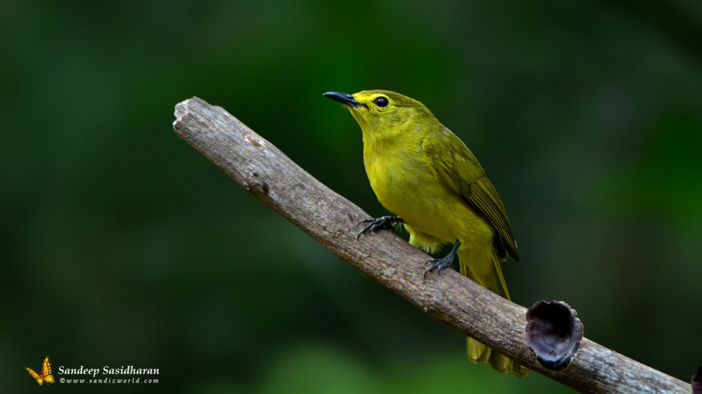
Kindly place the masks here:
MULTIPOLYGON (((495 187, 475 156, 424 104, 389 90, 328 92, 363 132, 363 161, 378 201, 398 217, 368 220, 359 233, 401 222, 409 243, 427 252, 453 243, 429 267, 441 271, 458 254, 461 274, 510 299, 501 264, 519 261, 517 242, 495 187)), ((468 358, 523 377, 529 369, 468 338, 468 358)))

